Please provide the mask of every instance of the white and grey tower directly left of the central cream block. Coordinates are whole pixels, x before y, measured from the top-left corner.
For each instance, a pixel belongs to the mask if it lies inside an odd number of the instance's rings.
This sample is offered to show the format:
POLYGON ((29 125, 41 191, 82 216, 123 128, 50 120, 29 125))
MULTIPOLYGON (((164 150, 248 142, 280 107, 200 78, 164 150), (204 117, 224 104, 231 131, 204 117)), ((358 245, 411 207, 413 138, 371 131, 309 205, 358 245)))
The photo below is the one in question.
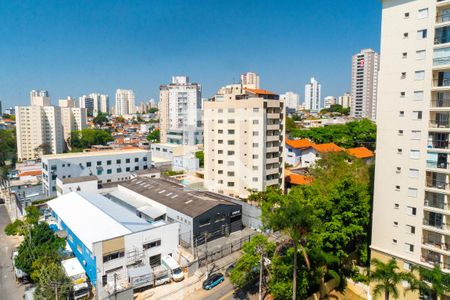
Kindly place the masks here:
POLYGON ((161 143, 203 143, 201 99, 201 86, 190 83, 187 76, 173 76, 172 83, 160 86, 158 114, 161 143))

